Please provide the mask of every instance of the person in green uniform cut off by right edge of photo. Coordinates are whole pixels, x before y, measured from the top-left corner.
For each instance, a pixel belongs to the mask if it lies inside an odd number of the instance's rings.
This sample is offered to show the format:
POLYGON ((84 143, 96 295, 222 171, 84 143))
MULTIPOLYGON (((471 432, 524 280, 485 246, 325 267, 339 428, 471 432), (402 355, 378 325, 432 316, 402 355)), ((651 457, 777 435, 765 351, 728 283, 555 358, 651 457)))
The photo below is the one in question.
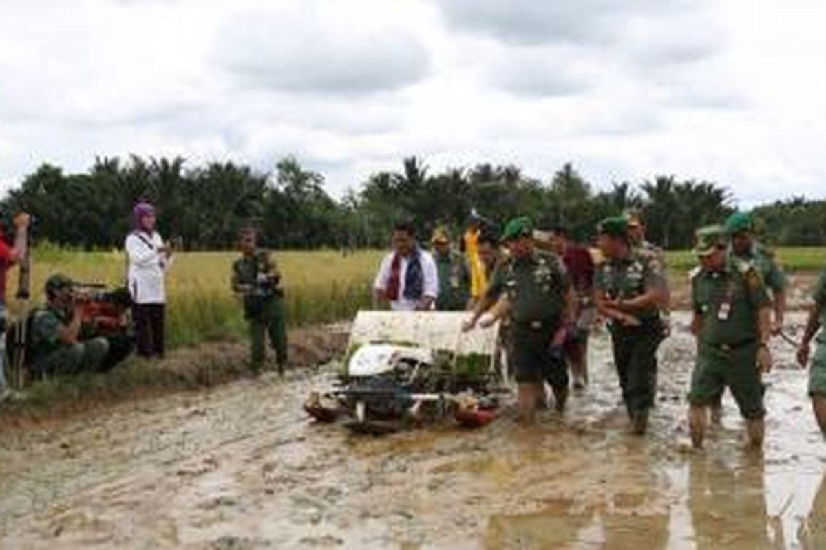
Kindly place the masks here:
POLYGON ((818 345, 814 350, 812 364, 809 367, 809 397, 812 399, 814 416, 820 430, 826 437, 826 331, 820 330, 826 323, 826 268, 820 274, 817 288, 814 290, 814 304, 809 309, 809 321, 806 322, 806 331, 800 349, 797 350, 797 360, 805 368, 809 363, 811 341, 818 335, 818 345))

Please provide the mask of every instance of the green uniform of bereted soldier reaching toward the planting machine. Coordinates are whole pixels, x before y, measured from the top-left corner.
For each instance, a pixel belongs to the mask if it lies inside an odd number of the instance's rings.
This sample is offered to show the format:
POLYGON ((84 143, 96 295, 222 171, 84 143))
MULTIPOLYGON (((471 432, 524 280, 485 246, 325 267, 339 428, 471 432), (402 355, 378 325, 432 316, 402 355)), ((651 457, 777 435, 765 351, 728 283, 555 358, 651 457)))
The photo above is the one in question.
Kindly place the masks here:
POLYGON ((571 282, 558 256, 534 251, 525 258, 509 258, 496 268, 488 297, 502 294, 510 302, 513 323, 513 364, 518 383, 541 383, 567 388, 563 358, 553 353, 553 336, 562 326, 571 282))

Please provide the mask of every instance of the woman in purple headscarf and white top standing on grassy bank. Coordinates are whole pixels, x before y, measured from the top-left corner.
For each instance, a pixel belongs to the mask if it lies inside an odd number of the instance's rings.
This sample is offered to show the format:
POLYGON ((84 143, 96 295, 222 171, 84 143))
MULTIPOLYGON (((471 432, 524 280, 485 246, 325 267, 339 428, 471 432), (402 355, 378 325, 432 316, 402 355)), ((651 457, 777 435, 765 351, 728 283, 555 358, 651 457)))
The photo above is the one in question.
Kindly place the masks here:
POLYGON ((135 204, 135 229, 126 237, 129 257, 129 291, 135 319, 138 355, 164 356, 164 275, 172 263, 172 248, 164 243, 155 227, 154 207, 135 204))

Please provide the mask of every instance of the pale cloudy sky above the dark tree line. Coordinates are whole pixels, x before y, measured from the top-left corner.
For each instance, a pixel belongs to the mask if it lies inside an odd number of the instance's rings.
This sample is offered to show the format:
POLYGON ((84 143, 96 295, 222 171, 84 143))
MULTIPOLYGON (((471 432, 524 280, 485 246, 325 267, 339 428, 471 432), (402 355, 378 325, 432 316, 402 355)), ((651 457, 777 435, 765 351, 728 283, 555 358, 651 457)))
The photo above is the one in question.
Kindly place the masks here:
POLYGON ((340 195, 416 154, 822 197, 824 28, 818 0, 0 0, 0 189, 294 154, 340 195))

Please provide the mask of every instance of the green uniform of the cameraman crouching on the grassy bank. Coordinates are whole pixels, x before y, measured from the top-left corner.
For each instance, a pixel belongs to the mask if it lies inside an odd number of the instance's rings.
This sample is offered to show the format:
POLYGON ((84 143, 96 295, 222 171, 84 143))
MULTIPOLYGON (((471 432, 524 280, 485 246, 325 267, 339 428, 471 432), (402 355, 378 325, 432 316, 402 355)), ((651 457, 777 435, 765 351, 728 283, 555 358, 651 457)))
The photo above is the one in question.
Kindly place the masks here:
POLYGON ((98 336, 88 341, 65 344, 58 329, 72 322, 68 308, 47 305, 32 313, 32 365, 41 374, 72 374, 80 370, 99 370, 109 352, 109 342, 98 336))

